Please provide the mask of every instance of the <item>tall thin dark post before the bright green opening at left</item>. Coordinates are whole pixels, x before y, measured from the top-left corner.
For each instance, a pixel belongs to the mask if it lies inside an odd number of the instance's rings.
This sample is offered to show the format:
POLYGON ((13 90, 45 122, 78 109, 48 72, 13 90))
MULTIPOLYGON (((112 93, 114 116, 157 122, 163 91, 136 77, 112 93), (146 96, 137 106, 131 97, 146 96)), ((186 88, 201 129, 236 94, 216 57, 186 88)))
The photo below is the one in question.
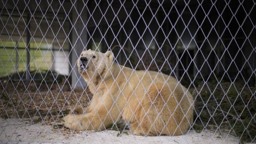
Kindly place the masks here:
POLYGON ((30 80, 30 15, 27 14, 27 67, 26 67, 26 80, 30 80))

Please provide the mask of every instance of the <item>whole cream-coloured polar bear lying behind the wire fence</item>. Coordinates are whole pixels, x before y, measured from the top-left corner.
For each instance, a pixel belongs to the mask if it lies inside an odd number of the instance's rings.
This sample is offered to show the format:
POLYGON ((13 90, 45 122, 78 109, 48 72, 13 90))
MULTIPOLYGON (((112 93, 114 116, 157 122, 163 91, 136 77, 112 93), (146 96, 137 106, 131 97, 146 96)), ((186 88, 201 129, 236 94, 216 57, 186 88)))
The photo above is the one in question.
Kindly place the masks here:
POLYGON ((174 77, 119 65, 111 51, 85 50, 77 66, 93 98, 63 118, 65 127, 104 130, 122 119, 134 135, 176 136, 192 126, 194 99, 174 77))

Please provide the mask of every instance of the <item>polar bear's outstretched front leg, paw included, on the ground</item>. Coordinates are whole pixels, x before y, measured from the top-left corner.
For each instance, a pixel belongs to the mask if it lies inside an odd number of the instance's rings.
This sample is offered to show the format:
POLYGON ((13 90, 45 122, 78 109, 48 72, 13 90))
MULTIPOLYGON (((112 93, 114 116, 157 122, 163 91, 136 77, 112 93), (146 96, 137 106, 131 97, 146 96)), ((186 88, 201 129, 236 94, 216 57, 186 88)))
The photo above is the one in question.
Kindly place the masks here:
POLYGON ((112 101, 112 95, 107 93, 103 97, 105 97, 104 103, 97 104, 93 101, 90 103, 89 111, 86 111, 85 114, 69 114, 64 117, 64 126, 76 130, 102 130, 119 120, 120 114, 117 105, 114 105, 112 101))

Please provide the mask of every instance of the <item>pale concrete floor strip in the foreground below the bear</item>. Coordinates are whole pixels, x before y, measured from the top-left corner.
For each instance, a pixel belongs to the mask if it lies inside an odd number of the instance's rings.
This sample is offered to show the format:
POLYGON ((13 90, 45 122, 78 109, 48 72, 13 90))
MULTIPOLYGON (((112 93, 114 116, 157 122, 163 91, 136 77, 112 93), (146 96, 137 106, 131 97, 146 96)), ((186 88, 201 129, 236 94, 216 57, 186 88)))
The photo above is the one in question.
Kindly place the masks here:
MULTIPOLYGON (((128 132, 129 133, 129 132, 128 132)), ((231 135, 203 131, 201 133, 190 130, 182 136, 135 136, 131 133, 118 135, 117 131, 104 130, 101 132, 65 130, 64 132, 50 125, 40 123, 30 124, 18 119, 4 120, 0 118, 0 143, 6 142, 37 142, 37 143, 113 143, 113 144, 234 144, 238 138, 231 135)))

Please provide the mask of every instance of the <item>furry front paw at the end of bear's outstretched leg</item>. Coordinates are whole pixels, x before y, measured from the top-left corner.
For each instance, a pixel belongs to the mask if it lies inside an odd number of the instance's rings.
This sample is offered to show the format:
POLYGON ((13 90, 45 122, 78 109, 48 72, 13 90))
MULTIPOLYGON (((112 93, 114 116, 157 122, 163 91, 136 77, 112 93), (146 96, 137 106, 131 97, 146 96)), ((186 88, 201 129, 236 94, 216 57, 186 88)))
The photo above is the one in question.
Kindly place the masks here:
POLYGON ((76 130, 84 130, 84 126, 82 125, 82 118, 80 115, 66 115, 63 118, 63 121, 65 127, 76 130))

